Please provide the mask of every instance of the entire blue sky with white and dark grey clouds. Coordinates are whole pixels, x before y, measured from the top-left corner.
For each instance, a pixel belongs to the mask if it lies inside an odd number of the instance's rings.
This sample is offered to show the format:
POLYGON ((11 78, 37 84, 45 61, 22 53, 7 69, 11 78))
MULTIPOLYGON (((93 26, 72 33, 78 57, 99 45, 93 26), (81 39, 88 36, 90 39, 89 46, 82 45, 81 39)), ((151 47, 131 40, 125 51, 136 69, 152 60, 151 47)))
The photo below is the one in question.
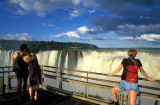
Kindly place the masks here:
POLYGON ((1 0, 0 39, 160 48, 160 0, 1 0))

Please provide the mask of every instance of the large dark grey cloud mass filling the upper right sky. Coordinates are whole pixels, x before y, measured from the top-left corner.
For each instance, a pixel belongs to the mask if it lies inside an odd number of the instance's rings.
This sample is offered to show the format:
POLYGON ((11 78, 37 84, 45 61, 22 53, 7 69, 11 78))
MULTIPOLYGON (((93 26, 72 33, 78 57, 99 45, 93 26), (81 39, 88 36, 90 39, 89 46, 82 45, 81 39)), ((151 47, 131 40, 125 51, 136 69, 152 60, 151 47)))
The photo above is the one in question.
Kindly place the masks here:
POLYGON ((87 0, 83 3, 86 7, 104 10, 111 15, 97 16, 89 20, 92 25, 101 28, 97 34, 110 31, 128 37, 160 34, 159 0, 87 0))

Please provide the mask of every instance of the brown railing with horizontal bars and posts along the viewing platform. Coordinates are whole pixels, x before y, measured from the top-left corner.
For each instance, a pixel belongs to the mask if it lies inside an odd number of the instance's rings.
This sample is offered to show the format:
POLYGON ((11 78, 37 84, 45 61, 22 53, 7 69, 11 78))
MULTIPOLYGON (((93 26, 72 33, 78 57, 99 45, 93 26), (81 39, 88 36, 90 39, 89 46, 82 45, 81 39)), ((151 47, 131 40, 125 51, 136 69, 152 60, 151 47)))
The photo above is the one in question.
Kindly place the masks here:
MULTIPOLYGON (((0 67, 0 73, 3 74, 4 76, 4 73, 8 73, 10 74, 11 71, 10 68, 12 68, 13 66, 5 66, 5 67, 0 67), (5 68, 8 68, 8 70, 5 70, 5 68), (1 71, 2 69, 2 71, 1 71)), ((65 69, 65 68, 59 68, 59 67, 53 67, 53 66, 46 66, 46 65, 40 65, 41 67, 41 70, 42 70, 42 74, 44 77, 46 78, 52 78, 52 79, 57 79, 59 81, 59 91, 61 91, 62 89, 62 81, 76 81, 76 82, 81 82, 81 84, 83 83, 84 85, 84 97, 88 97, 88 87, 91 87, 93 86, 93 84, 101 87, 101 89, 103 88, 103 86, 106 87, 109 87, 109 89, 111 88, 111 86, 107 86, 107 85, 103 85, 102 84, 97 84, 97 83, 91 83, 89 80, 95 80, 95 81, 101 81, 101 82, 108 82, 108 83, 114 83, 114 84, 119 84, 120 82, 118 81, 111 81, 111 80, 106 80, 106 79, 100 79, 100 78, 93 78, 93 77, 90 77, 89 74, 91 75, 99 75, 99 76, 108 76, 107 74, 105 73, 96 73, 96 72, 90 72, 90 71, 81 71, 81 70, 73 70, 73 69, 65 69), (52 71, 52 70, 45 70, 46 68, 54 68, 54 69, 57 69, 57 71, 52 71), (59 70, 58 70, 59 69, 59 70), (45 71, 45 72, 44 72, 45 71), (85 73, 87 74, 86 76, 81 76, 81 75, 78 75, 78 74, 73 74, 73 73, 64 73, 63 71, 72 71, 72 72, 79 72, 79 73, 85 73), (50 72, 50 73, 54 73, 54 74, 58 74, 58 76, 54 76, 52 74, 47 74, 46 72, 50 72), (71 77, 76 77, 76 78, 82 78, 84 79, 85 81, 79 81, 79 80, 76 80, 76 79, 71 79, 71 78, 66 78, 66 77, 63 77, 63 76, 71 76, 71 77), (92 84, 92 85, 91 85, 92 84)), ((43 77, 43 78, 44 78, 43 77)), ((117 78, 120 78, 121 76, 120 75, 114 75, 112 77, 117 77, 117 78)), ((4 78, 4 77, 3 77, 4 78)), ((148 81, 147 79, 144 79, 144 78, 139 78, 139 80, 143 80, 143 81, 148 81)), ((158 83, 160 83, 160 81, 156 81, 158 83)), ((43 84, 44 81, 42 81, 42 88, 43 87, 48 87, 48 85, 44 85, 43 84)), ((75 82, 74 82, 75 83, 75 82)), ((151 89, 151 90, 157 90, 157 91, 160 91, 160 88, 157 88, 157 87, 150 87, 150 86, 144 86, 144 85, 139 85, 139 87, 141 88, 145 88, 145 89, 151 89)), ((65 91, 65 90, 64 90, 65 91)), ((152 94, 152 93, 147 93, 147 94, 152 94)), ((120 94, 119 94, 120 95, 120 94)), ((143 97, 144 95, 141 95, 141 97, 143 97)), ((121 102, 123 101, 123 96, 121 96, 121 102)), ((160 98, 156 98, 155 100, 160 100, 160 98)), ((122 102, 123 103, 123 102, 122 102)), ((121 103, 121 105, 122 105, 121 103)))

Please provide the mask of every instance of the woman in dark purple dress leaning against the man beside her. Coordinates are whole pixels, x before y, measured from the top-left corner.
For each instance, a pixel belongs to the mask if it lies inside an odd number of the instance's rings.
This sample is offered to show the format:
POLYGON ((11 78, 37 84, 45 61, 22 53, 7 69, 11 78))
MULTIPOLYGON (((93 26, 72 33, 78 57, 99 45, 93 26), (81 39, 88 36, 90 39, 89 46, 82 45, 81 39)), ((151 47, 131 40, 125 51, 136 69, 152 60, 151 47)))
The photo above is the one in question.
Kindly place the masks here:
POLYGON ((24 61, 29 64, 29 94, 30 101, 37 101, 37 94, 39 90, 39 84, 41 84, 41 69, 38 64, 36 54, 31 52, 29 49, 24 51, 24 61), (33 97, 33 86, 35 85, 35 96, 33 97))

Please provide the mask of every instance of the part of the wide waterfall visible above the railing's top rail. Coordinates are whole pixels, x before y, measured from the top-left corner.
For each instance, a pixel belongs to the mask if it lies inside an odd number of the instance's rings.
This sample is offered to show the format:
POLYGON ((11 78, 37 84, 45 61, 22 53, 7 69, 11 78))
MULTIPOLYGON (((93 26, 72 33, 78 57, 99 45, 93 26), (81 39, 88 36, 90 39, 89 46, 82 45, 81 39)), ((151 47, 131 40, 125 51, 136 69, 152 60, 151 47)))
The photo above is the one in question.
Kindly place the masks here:
MULTIPOLYGON (((12 64, 14 51, 0 50, 1 66, 12 64)), ((43 51, 37 54, 40 65, 55 66, 61 68, 84 70, 99 73, 113 72, 121 64, 123 58, 127 58, 127 51, 124 50, 102 50, 102 51, 43 51)), ((140 51, 136 58, 140 59, 145 72, 155 79, 160 80, 160 53, 157 51, 140 51)), ((117 75, 121 75, 119 72, 117 75)), ((143 77, 139 73, 140 77, 143 77)))

